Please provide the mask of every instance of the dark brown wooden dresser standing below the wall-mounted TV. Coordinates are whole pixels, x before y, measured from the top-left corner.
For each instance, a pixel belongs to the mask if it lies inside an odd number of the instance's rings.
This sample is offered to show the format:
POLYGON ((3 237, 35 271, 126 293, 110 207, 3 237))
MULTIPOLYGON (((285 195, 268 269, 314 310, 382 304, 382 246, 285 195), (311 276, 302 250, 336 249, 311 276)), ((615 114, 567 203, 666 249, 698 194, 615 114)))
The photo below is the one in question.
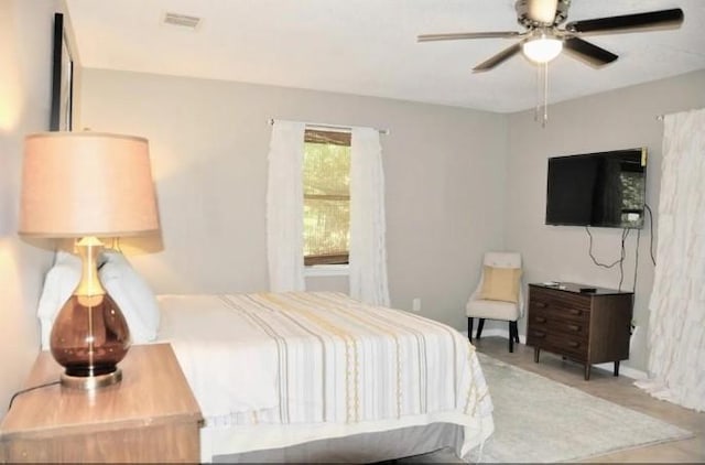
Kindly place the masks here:
POLYGON ((534 361, 541 350, 562 355, 590 366, 629 358, 629 336, 633 294, 585 284, 529 284, 527 345, 534 348, 534 361))

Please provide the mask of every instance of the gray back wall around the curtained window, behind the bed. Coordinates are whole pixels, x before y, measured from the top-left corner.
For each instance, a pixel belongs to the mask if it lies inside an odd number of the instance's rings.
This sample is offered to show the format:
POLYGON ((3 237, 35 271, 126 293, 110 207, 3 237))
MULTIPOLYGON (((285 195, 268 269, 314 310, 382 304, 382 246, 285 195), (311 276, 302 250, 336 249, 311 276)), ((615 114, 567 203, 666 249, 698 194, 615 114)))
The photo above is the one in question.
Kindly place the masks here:
POLYGON ((388 128, 392 305, 420 298, 422 314, 465 327, 481 255, 502 247, 507 116, 101 69, 84 69, 80 127, 150 140, 163 250, 131 261, 159 293, 268 289, 269 118, 388 128))

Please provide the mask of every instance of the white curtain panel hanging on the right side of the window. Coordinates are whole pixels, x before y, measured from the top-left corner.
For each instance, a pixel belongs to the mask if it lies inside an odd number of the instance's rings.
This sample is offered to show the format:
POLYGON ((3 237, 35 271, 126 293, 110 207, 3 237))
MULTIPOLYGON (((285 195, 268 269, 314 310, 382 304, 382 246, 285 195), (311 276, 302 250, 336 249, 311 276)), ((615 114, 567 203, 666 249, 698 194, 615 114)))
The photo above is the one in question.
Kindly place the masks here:
POLYGON ((379 131, 352 128, 350 148, 350 296, 389 306, 384 172, 379 131))

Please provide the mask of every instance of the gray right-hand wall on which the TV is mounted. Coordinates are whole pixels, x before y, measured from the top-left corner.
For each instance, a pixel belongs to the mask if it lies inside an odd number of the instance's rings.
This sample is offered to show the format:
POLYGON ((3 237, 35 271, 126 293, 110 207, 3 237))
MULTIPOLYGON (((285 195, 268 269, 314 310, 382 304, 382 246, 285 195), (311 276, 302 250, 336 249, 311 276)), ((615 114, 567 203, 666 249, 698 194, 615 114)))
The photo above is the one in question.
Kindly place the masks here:
MULTIPOLYGON (((516 113, 509 121, 509 158, 505 204, 505 240, 523 253, 527 282, 570 281, 617 289, 619 269, 593 263, 585 228, 546 226, 546 159, 554 155, 647 147, 647 203, 658 226, 663 123, 657 116, 705 107, 705 71, 552 105, 545 129, 533 112, 516 113)), ((600 262, 619 259, 621 230, 590 228, 593 252, 600 262)), ((639 326, 627 366, 646 371, 649 295, 653 284, 650 223, 626 241, 622 289, 636 281, 634 315, 639 326)), ((655 238, 654 238, 655 240, 655 238)), ((655 252, 655 242, 654 242, 655 252)), ((657 257, 658 262, 658 257, 657 257)), ((524 334, 525 321, 520 322, 524 334)))

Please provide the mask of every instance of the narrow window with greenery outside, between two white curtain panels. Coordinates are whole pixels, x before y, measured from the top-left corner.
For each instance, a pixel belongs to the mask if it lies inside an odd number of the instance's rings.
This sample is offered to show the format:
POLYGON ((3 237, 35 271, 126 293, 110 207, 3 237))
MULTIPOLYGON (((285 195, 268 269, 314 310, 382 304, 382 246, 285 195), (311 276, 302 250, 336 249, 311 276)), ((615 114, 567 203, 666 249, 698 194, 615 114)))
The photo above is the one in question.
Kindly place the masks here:
POLYGON ((348 262, 350 133, 304 133, 304 264, 348 262))

